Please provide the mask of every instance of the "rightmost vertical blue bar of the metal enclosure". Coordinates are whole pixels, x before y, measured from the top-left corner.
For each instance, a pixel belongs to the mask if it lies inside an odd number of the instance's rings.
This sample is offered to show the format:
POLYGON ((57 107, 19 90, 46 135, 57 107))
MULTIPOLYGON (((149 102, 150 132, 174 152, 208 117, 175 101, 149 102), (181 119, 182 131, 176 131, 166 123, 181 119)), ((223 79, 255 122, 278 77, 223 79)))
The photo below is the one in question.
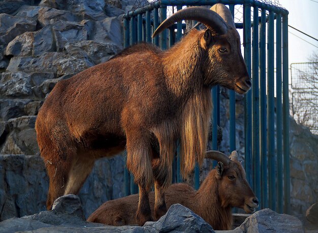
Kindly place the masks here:
POLYGON ((290 153, 289 153, 289 96, 288 96, 288 15, 282 17, 282 117, 284 158, 284 212, 291 208, 290 153))

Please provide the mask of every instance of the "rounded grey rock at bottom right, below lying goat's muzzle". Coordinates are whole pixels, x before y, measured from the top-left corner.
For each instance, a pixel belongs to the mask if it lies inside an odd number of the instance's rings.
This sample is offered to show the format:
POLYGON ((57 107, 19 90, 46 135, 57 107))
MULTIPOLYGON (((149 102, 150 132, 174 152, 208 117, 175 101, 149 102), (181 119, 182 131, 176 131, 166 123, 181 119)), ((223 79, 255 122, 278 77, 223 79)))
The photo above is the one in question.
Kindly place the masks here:
POLYGON ((234 230, 215 231, 224 233, 300 233, 304 232, 302 222, 291 215, 278 214, 270 209, 253 213, 234 230))

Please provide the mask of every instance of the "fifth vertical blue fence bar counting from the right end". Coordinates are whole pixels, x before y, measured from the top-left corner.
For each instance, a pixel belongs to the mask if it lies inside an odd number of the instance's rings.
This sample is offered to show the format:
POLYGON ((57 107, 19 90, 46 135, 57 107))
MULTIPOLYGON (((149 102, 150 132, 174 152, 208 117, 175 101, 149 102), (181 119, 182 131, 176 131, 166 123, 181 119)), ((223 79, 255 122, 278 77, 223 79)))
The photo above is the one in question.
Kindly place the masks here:
MULTIPOLYGON (((259 17, 259 9, 253 8, 253 18, 259 17)), ((253 190, 256 196, 261 198, 261 165, 260 165, 260 91, 259 91, 259 24, 253 25, 252 39, 252 170, 253 170, 253 190)))

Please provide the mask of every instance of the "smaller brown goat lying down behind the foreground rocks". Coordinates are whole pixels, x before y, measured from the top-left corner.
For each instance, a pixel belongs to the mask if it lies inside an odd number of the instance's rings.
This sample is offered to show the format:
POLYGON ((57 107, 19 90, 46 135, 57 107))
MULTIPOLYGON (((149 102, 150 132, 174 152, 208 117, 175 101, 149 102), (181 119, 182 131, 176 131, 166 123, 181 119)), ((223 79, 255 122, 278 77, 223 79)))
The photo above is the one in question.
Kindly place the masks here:
MULTIPOLYGON (((167 207, 182 204, 200 215, 215 230, 229 230, 232 226, 232 207, 252 213, 259 201, 251 190, 245 171, 233 151, 230 159, 218 151, 208 151, 207 158, 218 161, 217 167, 206 177, 196 192, 187 184, 173 184, 168 187, 165 198, 167 207)), ((149 193, 151 214, 153 215, 154 193, 149 193)), ((87 221, 107 225, 135 225, 138 194, 105 202, 87 221)))

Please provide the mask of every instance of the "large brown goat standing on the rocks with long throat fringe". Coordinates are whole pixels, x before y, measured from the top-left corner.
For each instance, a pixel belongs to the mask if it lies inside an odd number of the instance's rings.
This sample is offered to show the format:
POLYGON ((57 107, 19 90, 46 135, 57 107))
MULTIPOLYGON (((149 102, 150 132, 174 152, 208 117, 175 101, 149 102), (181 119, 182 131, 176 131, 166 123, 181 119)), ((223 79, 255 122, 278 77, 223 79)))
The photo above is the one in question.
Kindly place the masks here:
POLYGON ((215 9, 187 8, 166 19, 153 37, 182 19, 207 26, 167 51, 135 45, 56 84, 36 121, 50 179, 48 209, 57 197, 78 193, 96 159, 126 148, 127 168, 139 185, 138 224, 152 220, 153 181, 154 217, 166 213, 177 140, 183 175, 204 158, 211 88, 220 84, 242 94, 251 85, 232 15, 224 5, 215 9))

